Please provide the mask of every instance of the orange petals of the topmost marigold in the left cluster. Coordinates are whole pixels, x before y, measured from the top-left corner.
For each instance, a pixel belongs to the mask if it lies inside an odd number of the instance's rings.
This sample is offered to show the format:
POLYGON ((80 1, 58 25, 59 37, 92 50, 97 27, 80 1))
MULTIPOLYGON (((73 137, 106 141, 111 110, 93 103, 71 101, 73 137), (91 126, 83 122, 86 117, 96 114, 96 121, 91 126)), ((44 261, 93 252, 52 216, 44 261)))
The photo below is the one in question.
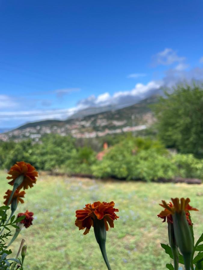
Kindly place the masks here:
POLYGON ((23 182, 17 188, 18 190, 20 190, 22 187, 23 189, 33 187, 33 184, 36 183, 36 177, 38 176, 38 172, 36 171, 35 167, 24 161, 16 162, 16 164, 11 167, 8 174, 10 174, 11 176, 8 176, 7 179, 13 179, 11 182, 8 182, 8 184, 10 184, 11 186, 14 185, 15 179, 18 176, 24 175, 23 182))

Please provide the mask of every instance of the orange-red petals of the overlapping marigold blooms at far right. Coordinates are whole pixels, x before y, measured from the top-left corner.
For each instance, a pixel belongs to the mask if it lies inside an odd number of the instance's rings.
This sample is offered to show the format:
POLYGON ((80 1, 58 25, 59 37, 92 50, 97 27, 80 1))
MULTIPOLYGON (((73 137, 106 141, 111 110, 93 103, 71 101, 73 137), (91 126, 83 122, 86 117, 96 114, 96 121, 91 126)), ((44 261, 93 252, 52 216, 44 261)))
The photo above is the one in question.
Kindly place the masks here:
POLYGON ((157 215, 158 217, 161 217, 163 219, 162 222, 165 222, 167 218, 167 222, 173 223, 172 215, 175 212, 181 213, 182 211, 185 211, 188 224, 192 225, 192 221, 189 219, 189 215, 190 215, 189 211, 190 210, 198 211, 198 209, 193 208, 192 206, 189 205, 190 199, 181 198, 179 200, 179 198, 175 198, 175 199, 171 198, 171 200, 173 203, 169 202, 167 204, 165 201, 162 201, 162 204, 159 204, 165 208, 163 211, 161 211, 160 214, 157 215))

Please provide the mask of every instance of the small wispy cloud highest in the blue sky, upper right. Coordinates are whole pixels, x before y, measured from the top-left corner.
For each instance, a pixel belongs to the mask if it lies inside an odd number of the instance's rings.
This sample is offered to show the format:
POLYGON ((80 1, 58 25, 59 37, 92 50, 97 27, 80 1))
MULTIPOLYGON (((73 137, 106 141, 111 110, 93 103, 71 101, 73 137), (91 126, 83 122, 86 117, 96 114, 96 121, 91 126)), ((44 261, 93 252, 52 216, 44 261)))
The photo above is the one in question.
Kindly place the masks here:
POLYGON ((155 66, 182 63, 186 60, 185 57, 178 56, 177 52, 171 48, 166 48, 163 51, 158 52, 156 55, 152 56, 152 59, 155 66))

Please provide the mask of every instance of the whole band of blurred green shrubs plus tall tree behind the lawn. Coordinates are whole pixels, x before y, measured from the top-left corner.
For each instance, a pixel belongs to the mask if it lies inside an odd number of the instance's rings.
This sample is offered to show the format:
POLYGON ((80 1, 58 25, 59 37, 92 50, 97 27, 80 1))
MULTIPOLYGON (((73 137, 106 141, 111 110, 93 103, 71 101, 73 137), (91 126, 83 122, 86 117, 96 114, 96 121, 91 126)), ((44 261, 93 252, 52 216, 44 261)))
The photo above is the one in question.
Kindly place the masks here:
POLYGON ((157 121, 144 133, 75 139, 47 134, 39 142, 0 142, 0 167, 16 161, 37 170, 91 174, 98 178, 157 181, 203 175, 203 90, 179 85, 153 106, 157 121), (141 137, 142 136, 142 137, 141 137), (103 149, 103 144, 108 149, 103 149), (102 152, 102 158, 98 153, 102 152))

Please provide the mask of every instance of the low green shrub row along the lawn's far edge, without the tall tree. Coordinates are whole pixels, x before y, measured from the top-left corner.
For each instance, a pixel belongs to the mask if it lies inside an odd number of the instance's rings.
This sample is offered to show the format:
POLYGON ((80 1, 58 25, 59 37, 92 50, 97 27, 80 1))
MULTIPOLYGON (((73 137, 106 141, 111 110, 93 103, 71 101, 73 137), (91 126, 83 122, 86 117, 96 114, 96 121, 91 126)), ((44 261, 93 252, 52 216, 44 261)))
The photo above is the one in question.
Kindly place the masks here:
MULTIPOLYGON (((0 167, 16 161, 31 163, 38 170, 59 170, 68 174, 91 174, 99 178, 152 181, 174 177, 202 178, 203 160, 192 154, 174 154, 158 140, 128 135, 104 150, 102 160, 84 142, 48 134, 40 143, 31 140, 0 142, 0 167)), ((100 143, 102 145, 102 142, 100 143)))

